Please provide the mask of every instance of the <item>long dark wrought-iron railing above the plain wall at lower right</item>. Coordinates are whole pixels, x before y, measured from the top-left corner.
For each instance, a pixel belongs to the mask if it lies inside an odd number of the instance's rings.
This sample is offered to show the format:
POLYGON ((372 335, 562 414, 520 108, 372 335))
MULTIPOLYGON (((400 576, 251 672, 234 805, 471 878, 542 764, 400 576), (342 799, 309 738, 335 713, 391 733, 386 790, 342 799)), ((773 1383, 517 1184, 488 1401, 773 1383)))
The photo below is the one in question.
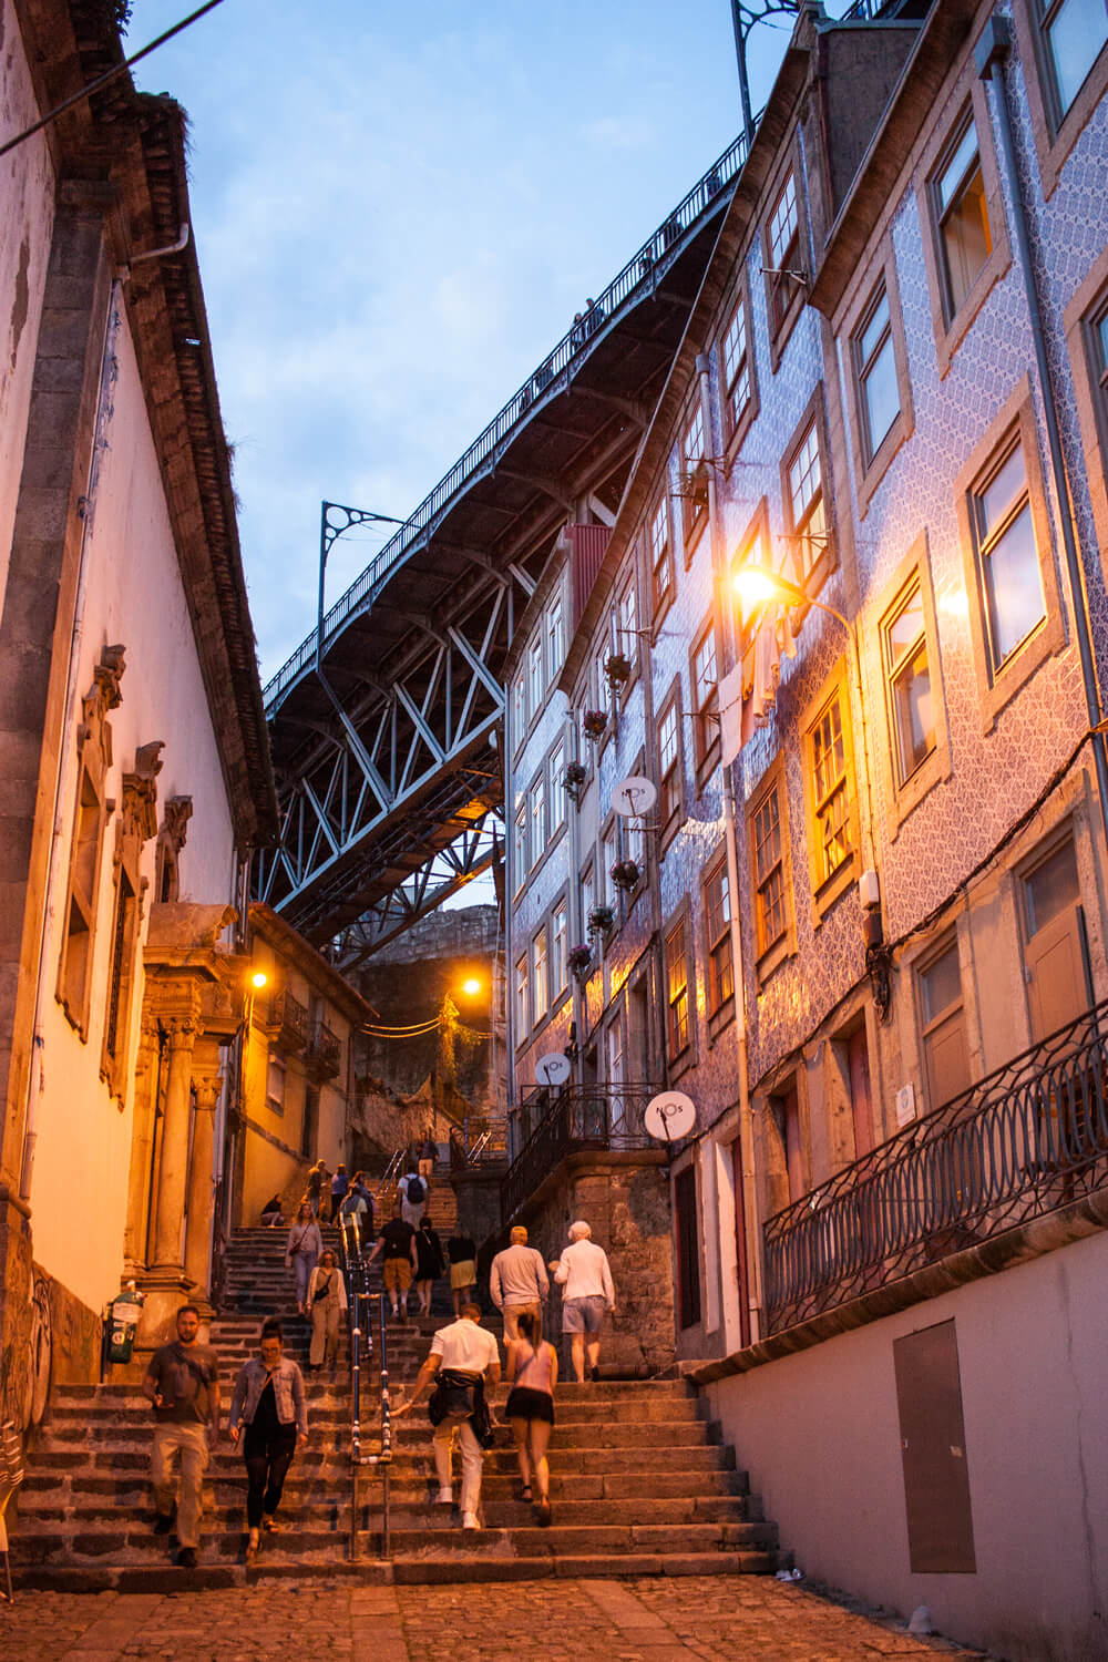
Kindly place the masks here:
POLYGON ((1108 1001, 764 1227, 771 1333, 1108 1187, 1108 1001))

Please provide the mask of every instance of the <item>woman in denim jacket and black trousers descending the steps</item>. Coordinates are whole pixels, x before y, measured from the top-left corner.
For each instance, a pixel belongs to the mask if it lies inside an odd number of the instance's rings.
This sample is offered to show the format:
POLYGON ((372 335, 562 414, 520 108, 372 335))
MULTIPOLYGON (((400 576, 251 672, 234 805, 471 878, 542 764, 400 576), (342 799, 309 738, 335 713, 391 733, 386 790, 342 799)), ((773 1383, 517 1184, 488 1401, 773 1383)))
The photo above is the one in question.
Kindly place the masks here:
POLYGON ((248 1564, 257 1556, 262 1527, 277 1527, 274 1512, 281 1504, 296 1444, 307 1443, 304 1378, 297 1365, 284 1356, 284 1333, 276 1316, 262 1323, 259 1351, 239 1368, 228 1416, 233 1443, 239 1441, 241 1428, 246 1426, 243 1458, 249 1478, 248 1564))

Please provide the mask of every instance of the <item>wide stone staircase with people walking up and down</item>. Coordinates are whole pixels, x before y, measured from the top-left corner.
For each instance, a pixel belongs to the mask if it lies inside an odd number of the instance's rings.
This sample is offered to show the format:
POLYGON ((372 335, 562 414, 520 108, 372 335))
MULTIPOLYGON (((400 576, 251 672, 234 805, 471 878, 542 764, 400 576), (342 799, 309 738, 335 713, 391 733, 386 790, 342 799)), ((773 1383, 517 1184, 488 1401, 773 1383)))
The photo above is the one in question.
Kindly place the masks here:
MULTIPOLYGON (((445 1190, 449 1185, 442 1185, 445 1190)), ((432 1202, 435 1195, 432 1192, 432 1202)), ((437 1213, 432 1210, 437 1218, 437 1213)), ((326 1232, 331 1233, 331 1232, 326 1232)), ((444 1232, 445 1233, 445 1232, 444 1232)), ((224 1310, 211 1338, 223 1360, 224 1403, 257 1345, 264 1315, 286 1323, 286 1351, 307 1361, 309 1325, 292 1310, 284 1232, 241 1230, 228 1248, 224 1310)), ((374 1271, 375 1275, 375 1271, 374 1271)), ((389 1376, 410 1388, 442 1316, 389 1321, 389 1376)), ((437 1306, 435 1306, 437 1308, 437 1306)), ((487 1323, 493 1328, 498 1325, 487 1323)), ((777 1569, 776 1526, 736 1471, 734 1453, 681 1379, 560 1384, 552 1441, 553 1527, 538 1529, 517 1499, 507 1428, 485 1456, 482 1524, 432 1507, 430 1428, 422 1413, 395 1423, 390 1557, 382 1559, 382 1468, 359 1476, 359 1549, 351 1562, 351 1411, 346 1338, 334 1378, 307 1376, 311 1441, 292 1463, 279 1534, 244 1566, 246 1474, 228 1439, 204 1489, 201 1567, 178 1569, 151 1532, 150 1409, 135 1384, 63 1386, 30 1461, 13 1532, 22 1586, 163 1591, 266 1577, 357 1576, 390 1582, 463 1582, 543 1576, 736 1574, 777 1569)), ((380 1448, 379 1343, 362 1369, 362 1453, 380 1448)), ((503 1388, 493 1398, 503 1403, 503 1388)), ((457 1492, 457 1481, 455 1481, 457 1492)))

